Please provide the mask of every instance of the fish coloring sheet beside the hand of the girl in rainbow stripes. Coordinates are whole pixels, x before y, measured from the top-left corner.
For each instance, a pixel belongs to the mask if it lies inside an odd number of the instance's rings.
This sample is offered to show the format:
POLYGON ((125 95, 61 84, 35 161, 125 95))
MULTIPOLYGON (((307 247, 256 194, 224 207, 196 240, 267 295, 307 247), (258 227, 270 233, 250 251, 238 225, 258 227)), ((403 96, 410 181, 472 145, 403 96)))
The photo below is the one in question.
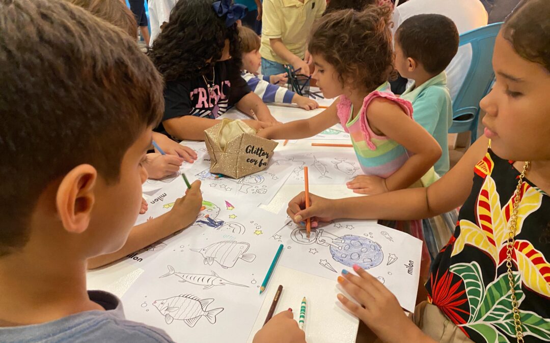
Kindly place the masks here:
POLYGON ((272 162, 293 167, 287 184, 304 184, 304 166, 308 167, 310 184, 345 184, 357 175, 362 175, 353 148, 342 148, 337 154, 323 147, 303 151, 275 151, 272 162))

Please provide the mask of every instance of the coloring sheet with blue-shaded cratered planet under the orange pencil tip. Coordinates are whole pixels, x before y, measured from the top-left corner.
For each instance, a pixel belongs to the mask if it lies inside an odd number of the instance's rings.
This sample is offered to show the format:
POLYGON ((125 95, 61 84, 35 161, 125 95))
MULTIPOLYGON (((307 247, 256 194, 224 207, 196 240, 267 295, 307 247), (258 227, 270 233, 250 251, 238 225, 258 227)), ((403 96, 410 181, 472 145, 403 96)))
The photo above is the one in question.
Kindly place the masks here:
POLYGON ((288 223, 271 239, 284 244, 282 266, 336 279, 342 269, 359 265, 397 297, 401 307, 414 311, 420 277, 422 241, 375 223, 338 221, 312 229, 288 223))

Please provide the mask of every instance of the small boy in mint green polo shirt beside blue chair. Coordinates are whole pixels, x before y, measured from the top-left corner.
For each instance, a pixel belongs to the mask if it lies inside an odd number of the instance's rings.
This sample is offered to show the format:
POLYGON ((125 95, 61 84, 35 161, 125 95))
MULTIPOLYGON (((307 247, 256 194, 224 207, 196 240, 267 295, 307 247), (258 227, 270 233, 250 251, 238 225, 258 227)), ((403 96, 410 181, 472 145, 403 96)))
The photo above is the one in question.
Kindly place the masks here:
POLYGON ((439 176, 449 171, 447 134, 453 107, 445 68, 458 50, 458 31, 439 14, 411 16, 395 32, 395 69, 414 80, 401 98, 412 103, 414 120, 437 140, 443 151, 434 165, 439 176))

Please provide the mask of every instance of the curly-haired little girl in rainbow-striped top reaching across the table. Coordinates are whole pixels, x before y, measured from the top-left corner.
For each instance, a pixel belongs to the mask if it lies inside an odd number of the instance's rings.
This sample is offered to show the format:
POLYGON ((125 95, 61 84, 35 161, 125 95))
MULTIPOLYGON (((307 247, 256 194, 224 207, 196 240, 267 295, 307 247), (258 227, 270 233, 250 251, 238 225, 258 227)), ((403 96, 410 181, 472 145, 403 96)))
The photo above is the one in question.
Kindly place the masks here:
POLYGON ((342 123, 365 175, 348 182, 356 193, 378 194, 418 182, 441 156, 430 134, 412 120, 412 106, 389 91, 393 49, 388 5, 324 15, 309 51, 324 97, 339 97, 310 119, 266 128, 259 136, 300 139, 342 123))

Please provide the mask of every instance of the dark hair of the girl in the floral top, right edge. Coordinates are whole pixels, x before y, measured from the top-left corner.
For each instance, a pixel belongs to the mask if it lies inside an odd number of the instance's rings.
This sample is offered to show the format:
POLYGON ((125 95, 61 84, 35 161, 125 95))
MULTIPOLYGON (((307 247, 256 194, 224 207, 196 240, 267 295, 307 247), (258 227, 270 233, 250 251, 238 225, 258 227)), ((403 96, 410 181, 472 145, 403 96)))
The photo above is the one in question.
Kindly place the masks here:
POLYGON ((550 1, 524 1, 506 18, 502 34, 522 58, 541 64, 550 71, 548 13, 550 13, 550 1))

